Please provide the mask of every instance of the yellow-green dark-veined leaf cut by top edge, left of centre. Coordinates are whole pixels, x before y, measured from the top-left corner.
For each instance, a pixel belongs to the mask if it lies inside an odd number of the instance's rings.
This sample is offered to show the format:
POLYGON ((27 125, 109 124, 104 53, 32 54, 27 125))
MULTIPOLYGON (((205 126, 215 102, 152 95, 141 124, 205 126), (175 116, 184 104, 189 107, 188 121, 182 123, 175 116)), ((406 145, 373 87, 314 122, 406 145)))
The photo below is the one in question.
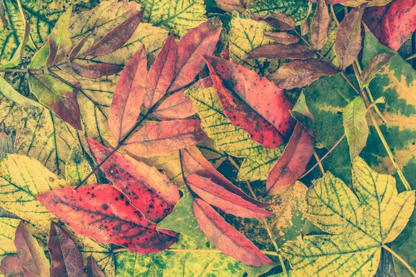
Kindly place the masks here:
POLYGON ((143 21, 166 28, 182 37, 187 30, 207 21, 203 0, 138 0, 144 6, 143 21))

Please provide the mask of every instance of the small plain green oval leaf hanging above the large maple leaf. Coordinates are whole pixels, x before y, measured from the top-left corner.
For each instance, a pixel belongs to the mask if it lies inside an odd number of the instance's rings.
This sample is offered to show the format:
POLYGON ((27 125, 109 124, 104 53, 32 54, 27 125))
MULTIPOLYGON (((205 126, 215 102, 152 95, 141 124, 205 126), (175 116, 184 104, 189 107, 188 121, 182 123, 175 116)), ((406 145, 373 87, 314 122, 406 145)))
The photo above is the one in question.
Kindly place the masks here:
POLYGON ((349 102, 344 109, 343 125, 352 161, 365 148, 368 134, 370 134, 365 114, 367 114, 367 108, 361 96, 357 96, 352 102, 349 102))

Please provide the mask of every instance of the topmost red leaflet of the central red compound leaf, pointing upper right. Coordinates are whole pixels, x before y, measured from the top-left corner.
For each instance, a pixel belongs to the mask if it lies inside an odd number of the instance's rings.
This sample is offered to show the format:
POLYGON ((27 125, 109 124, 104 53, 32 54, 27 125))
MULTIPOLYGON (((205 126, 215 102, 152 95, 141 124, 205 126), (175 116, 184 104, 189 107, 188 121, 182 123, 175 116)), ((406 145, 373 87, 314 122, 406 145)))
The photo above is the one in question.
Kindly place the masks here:
POLYGON ((196 75, 204 69, 202 55, 211 55, 221 33, 221 21, 211 17, 205 23, 188 31, 177 43, 177 62, 175 79, 168 92, 182 89, 192 82, 196 75))

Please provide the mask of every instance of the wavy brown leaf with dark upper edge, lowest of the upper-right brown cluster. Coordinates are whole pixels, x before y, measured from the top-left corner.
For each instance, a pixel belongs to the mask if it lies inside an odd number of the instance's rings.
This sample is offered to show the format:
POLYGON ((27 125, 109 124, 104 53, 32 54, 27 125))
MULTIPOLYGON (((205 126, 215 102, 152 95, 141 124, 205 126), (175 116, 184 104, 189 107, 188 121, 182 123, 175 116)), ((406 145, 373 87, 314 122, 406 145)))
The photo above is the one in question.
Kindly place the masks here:
POLYGON ((275 82, 280 89, 294 89, 305 87, 322 75, 335 75, 338 69, 331 64, 317 60, 294 60, 277 69, 269 75, 269 79, 275 82))

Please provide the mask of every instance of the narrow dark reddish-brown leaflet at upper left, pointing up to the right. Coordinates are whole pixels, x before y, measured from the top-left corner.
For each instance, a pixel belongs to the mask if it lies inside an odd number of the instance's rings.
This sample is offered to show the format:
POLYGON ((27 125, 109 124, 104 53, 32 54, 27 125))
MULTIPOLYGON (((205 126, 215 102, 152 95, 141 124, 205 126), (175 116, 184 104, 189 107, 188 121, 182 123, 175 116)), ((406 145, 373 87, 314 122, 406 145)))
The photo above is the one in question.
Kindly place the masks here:
POLYGON ((102 56, 116 51, 132 37, 133 33, 143 17, 144 10, 135 13, 128 19, 116 26, 110 33, 107 33, 99 42, 94 44, 85 55, 102 56))

